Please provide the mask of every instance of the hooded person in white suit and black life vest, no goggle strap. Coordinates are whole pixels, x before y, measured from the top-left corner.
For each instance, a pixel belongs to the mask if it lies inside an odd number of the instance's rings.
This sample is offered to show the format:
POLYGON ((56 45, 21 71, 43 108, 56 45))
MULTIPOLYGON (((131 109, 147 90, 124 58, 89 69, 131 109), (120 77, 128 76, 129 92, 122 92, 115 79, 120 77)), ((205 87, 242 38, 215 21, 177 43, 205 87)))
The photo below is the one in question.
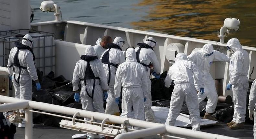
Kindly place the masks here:
MULTIPOLYGON (((104 113, 103 99, 108 97, 108 84, 102 63, 98 60, 94 48, 87 46, 85 54, 77 61, 73 72, 74 99, 79 102, 79 84, 81 84, 81 103, 83 110, 104 113)), ((90 118, 85 118, 90 120, 90 118)), ((90 138, 96 135, 88 133, 90 138)))

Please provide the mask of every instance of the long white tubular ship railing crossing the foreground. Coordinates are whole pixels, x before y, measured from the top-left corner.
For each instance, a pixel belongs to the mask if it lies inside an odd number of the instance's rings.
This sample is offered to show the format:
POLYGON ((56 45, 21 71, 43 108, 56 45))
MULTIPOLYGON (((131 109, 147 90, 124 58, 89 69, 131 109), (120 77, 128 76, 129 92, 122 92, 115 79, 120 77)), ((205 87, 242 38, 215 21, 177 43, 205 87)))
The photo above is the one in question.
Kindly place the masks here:
MULTIPOLYGON (((0 96, 0 102, 5 103, 0 105, 0 112, 18 110, 18 109, 26 110, 25 111, 25 123, 26 123, 25 139, 33 138, 32 112, 37 112, 37 111, 34 111, 32 109, 71 115, 73 116, 73 119, 74 117, 84 117, 84 118, 93 117, 93 119, 95 120, 103 121, 102 123, 104 123, 106 119, 108 119, 107 121, 116 123, 116 124, 124 124, 125 122, 127 122, 130 126, 143 128, 137 131, 118 134, 115 137, 115 139, 127 139, 127 138, 135 139, 135 138, 142 138, 142 137, 156 135, 156 134, 159 134, 162 137, 162 139, 166 139, 166 138, 235 139, 233 137, 228 137, 228 136, 223 136, 218 134, 211 134, 211 133, 206 133, 201 131, 193 131, 190 129, 180 128, 175 126, 165 126, 159 123, 146 122, 146 121, 141 121, 141 120, 136 120, 131 118, 124 118, 120 116, 85 111, 85 110, 47 104, 42 102, 22 100, 22 99, 6 97, 6 96, 0 96)), ((47 114, 45 112, 42 112, 42 113, 47 114)), ((63 118, 70 118, 70 117, 65 117, 57 114, 50 114, 50 113, 48 114, 53 116, 63 117, 63 118)), ((78 119, 75 119, 75 120, 78 120, 78 119)), ((78 121, 84 121, 84 120, 78 120, 78 121)), ((104 124, 104 125, 107 125, 107 124, 104 124)), ((101 124, 101 126, 103 126, 103 124, 101 124)))

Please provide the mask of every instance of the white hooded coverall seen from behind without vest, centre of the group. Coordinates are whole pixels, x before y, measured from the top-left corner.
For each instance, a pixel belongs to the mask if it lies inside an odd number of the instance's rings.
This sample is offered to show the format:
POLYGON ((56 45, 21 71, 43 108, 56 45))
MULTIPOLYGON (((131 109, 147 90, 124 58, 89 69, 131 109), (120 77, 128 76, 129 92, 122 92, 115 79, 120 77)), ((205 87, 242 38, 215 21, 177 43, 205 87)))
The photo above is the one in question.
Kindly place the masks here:
POLYGON ((118 66, 114 86, 115 98, 120 97, 123 87, 121 116, 144 120, 143 98, 147 97, 147 78, 144 67, 137 63, 135 50, 127 49, 126 62, 118 66), (131 115, 132 106, 134 116, 131 115))

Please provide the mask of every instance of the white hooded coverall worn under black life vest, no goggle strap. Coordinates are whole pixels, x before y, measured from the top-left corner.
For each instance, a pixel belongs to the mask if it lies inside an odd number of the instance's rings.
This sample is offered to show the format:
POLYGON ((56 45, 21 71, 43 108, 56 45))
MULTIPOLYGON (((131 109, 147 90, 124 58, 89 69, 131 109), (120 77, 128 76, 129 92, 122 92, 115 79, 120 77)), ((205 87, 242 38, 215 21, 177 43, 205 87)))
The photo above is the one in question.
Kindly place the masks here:
MULTIPOLYGON (((87 46, 85 48, 85 55, 96 56, 94 48, 92 46, 87 46)), ((92 96, 94 79, 87 79, 86 85, 84 81, 80 81, 80 79, 85 78, 87 63, 88 63, 87 61, 82 59, 77 61, 76 66, 74 68, 73 79, 72 79, 73 91, 78 90, 79 84, 81 84, 81 103, 82 103, 83 110, 104 113, 103 90, 108 89, 105 70, 100 60, 95 59, 90 61, 90 66, 94 73, 94 76, 100 78, 99 80, 95 80, 94 95, 92 99, 91 97, 88 96, 86 89, 89 95, 92 96)), ((85 118, 85 120, 90 120, 90 119, 85 118)), ((88 135, 91 136, 92 134, 88 134, 88 135)))

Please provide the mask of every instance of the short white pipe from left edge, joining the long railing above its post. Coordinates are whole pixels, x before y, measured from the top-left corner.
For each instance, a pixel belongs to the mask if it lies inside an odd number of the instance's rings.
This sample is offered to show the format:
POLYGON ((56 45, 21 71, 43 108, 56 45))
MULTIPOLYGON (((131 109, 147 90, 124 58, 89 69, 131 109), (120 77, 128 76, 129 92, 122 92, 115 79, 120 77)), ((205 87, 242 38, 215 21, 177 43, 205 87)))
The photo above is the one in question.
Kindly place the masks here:
POLYGON ((9 103, 9 104, 1 104, 0 112, 23 109, 23 108, 27 108, 28 106, 29 106, 28 101, 20 101, 20 102, 13 102, 13 103, 9 103))

